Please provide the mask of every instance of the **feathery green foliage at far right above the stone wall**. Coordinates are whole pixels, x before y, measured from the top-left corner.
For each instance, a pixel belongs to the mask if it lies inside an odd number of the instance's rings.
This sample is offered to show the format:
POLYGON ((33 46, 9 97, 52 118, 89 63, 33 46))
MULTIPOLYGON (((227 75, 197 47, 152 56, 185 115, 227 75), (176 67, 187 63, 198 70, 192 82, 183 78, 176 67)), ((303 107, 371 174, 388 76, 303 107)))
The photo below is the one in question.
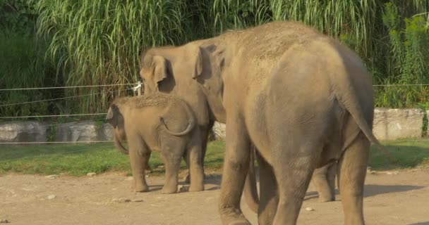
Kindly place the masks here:
MULTIPOLYGON (((402 18, 395 4, 385 4, 382 22, 389 31, 385 56, 390 84, 429 84, 429 30, 427 15, 402 18)), ((415 107, 429 101, 428 86, 388 86, 377 88, 376 105, 415 107)))

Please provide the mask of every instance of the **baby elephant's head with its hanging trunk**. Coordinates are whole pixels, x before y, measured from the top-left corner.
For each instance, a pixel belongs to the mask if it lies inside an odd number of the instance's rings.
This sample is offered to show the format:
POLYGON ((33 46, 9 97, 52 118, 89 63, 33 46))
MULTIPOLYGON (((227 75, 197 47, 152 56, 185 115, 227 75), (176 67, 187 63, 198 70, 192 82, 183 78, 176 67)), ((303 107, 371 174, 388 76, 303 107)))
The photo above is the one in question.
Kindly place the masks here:
POLYGON ((111 104, 107 112, 106 121, 113 127, 114 145, 121 153, 128 155, 128 149, 122 146, 121 141, 126 141, 123 115, 116 104, 111 104))

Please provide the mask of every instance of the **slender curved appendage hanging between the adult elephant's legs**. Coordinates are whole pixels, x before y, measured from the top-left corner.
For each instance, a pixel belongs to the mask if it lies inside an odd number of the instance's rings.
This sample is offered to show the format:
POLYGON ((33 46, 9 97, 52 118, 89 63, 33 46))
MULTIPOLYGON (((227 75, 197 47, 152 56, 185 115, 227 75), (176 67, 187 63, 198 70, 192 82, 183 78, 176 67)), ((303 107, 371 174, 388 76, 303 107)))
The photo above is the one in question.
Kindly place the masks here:
POLYGON ((250 150, 250 167, 246 176, 246 182, 244 183, 243 194, 246 199, 246 203, 250 210, 258 213, 259 196, 258 189, 256 188, 256 174, 255 174, 255 146, 250 150))

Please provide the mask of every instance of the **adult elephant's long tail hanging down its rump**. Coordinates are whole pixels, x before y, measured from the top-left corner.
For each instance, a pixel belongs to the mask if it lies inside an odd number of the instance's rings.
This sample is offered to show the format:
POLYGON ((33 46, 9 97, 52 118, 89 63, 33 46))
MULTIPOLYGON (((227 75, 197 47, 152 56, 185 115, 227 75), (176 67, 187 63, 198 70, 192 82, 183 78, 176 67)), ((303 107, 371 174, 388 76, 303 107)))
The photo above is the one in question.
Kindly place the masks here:
MULTIPOLYGON (((351 56, 351 52, 349 52, 349 49, 343 49, 343 47, 337 47, 339 49, 339 53, 337 53, 337 62, 343 62, 341 66, 336 65, 335 68, 337 68, 338 73, 330 73, 330 82, 334 89, 334 94, 337 96, 337 100, 339 103, 344 105, 344 108, 346 108, 347 111, 349 111, 351 117, 354 118, 354 121, 358 125, 358 127, 361 129, 363 134, 365 134, 366 138, 373 144, 375 144, 380 150, 382 150, 385 155, 390 160, 393 160, 392 154, 385 149, 380 141, 374 136, 372 131, 372 124, 368 124, 368 122, 365 120, 365 116, 363 115, 363 108, 361 105, 365 104, 365 101, 358 98, 358 91, 356 90, 356 85, 362 84, 363 86, 371 86, 372 90, 372 84, 368 82, 368 84, 363 84, 367 82, 365 79, 368 74, 367 70, 364 68, 363 63, 361 63, 361 60, 358 58, 358 56, 351 56), (341 56, 341 55, 349 55, 349 56, 341 56), (348 58, 349 60, 359 60, 359 65, 344 65, 344 58, 348 58), (349 68, 350 67, 350 68, 349 68), (361 72, 362 78, 359 79, 358 77, 352 77, 349 75, 349 72, 361 72)), ((363 89, 363 91, 368 91, 363 89)), ((370 96, 373 98, 373 96, 370 96)), ((371 99, 372 100, 372 99, 371 99)), ((371 101, 372 104, 372 101, 371 101)), ((373 110, 373 108, 371 109, 373 110)), ((346 147, 346 146, 344 146, 346 147)))

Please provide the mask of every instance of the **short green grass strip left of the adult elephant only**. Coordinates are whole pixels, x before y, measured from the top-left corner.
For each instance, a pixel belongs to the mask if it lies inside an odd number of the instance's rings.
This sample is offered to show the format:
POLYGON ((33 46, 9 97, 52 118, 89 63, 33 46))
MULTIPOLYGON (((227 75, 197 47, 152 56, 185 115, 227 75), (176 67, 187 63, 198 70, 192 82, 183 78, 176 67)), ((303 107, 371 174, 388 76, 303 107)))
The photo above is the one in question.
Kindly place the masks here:
MULTIPOLYGON (((210 142, 205 165, 208 168, 222 167, 224 142, 210 142)), ((162 165, 159 153, 152 153, 149 165, 152 169, 162 165)), ((186 168, 182 160, 182 169, 186 168)), ((49 144, 40 146, 1 146, 0 174, 18 172, 23 174, 70 174, 82 176, 88 172, 126 172, 131 174, 128 155, 116 151, 112 143, 49 144)), ((164 169, 155 169, 155 174, 164 169)))

